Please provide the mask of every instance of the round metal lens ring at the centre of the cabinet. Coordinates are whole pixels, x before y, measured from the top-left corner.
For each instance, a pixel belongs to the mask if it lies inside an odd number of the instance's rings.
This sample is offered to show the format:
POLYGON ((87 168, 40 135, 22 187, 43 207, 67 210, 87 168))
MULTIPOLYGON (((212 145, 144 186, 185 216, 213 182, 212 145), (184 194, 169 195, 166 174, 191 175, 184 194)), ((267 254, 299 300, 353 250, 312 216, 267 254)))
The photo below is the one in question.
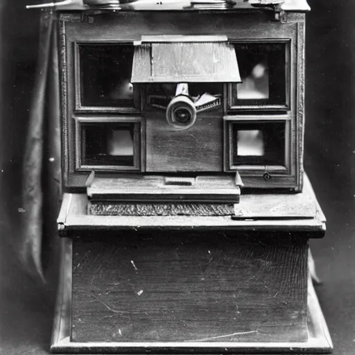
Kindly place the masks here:
POLYGON ((175 96, 166 108, 166 121, 176 130, 186 130, 196 121, 196 107, 187 96, 175 96))

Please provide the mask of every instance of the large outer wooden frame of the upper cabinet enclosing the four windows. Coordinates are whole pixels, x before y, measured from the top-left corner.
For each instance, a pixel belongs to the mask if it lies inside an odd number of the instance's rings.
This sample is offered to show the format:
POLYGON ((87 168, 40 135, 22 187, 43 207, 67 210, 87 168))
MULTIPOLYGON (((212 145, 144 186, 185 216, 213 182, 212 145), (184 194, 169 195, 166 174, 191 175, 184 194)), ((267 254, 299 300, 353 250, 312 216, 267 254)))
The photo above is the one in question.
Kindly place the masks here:
MULTIPOLYGON (((191 21, 196 12, 116 12, 114 16, 105 12, 96 15, 62 12, 60 14, 61 45, 61 94, 62 94, 62 161, 63 183, 67 191, 85 191, 88 173, 76 171, 75 159, 70 153, 75 147, 75 130, 71 116, 76 112, 118 112, 116 107, 78 107, 76 105, 76 71, 74 51, 77 43, 133 43, 145 35, 200 35, 200 28, 205 33, 225 35, 230 42, 288 42, 290 48, 290 107, 291 112, 291 171, 289 175, 279 175, 272 182, 265 182, 261 175, 244 176, 247 187, 286 188, 302 191, 303 184, 303 132, 304 132, 304 13, 288 12, 280 21, 269 12, 250 11, 228 12, 202 11, 199 21, 191 21), (236 17, 246 21, 236 21, 236 17), (272 21, 274 20, 274 21, 272 21), (177 26, 170 26, 171 21, 177 26), (137 26, 140 24, 140 27, 137 26), (214 26, 211 26, 211 24, 214 26), (154 24, 154 26, 152 25, 154 24), (101 29, 104 31, 101 31, 101 29), (216 31, 218 28, 218 31, 216 31), (298 78, 300 77, 300 78, 298 78)), ((227 86, 225 94, 227 94, 227 86)), ((142 85, 144 90, 144 85, 142 85)), ((144 95, 141 96, 142 109, 144 95)), ((263 107, 265 108, 265 107, 263 107)), ((227 99, 223 102, 225 114, 228 112, 227 99)), ((249 107, 250 110, 250 107, 249 107)), ((123 110, 124 111, 124 110, 123 110)), ((278 111, 279 112, 279 111, 278 111)), ((123 113, 123 112, 120 112, 123 113)), ((127 112, 128 114, 134 112, 127 112)), ((250 112, 248 112, 249 114, 250 112)), ((264 112, 265 113, 265 112, 264 112)), ((277 110, 271 113, 277 113, 277 110)))

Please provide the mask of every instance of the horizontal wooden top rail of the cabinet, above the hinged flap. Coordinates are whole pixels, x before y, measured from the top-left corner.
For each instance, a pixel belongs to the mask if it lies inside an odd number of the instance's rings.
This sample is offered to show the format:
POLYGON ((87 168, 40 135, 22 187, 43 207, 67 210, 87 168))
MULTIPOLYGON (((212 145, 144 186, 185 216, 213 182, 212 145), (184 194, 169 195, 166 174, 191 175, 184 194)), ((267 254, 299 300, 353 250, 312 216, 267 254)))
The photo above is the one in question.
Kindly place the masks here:
POLYGON ((289 39, 295 37, 295 24, 272 22, 270 12, 116 12, 98 13, 92 21, 67 22, 69 41, 141 40, 141 35, 226 35, 228 40, 289 39), (139 24, 139 26, 137 26, 139 24), (99 30, 101 28, 101 31, 99 30))

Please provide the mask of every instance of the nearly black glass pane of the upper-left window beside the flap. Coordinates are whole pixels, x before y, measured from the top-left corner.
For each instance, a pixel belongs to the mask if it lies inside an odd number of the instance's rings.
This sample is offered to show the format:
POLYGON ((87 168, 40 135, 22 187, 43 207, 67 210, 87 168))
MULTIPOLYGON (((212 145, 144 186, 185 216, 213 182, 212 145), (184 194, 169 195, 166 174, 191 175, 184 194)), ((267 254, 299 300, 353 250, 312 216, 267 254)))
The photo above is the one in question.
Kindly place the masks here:
POLYGON ((133 51, 131 44, 80 44, 83 106, 138 108, 138 88, 130 83, 133 51))

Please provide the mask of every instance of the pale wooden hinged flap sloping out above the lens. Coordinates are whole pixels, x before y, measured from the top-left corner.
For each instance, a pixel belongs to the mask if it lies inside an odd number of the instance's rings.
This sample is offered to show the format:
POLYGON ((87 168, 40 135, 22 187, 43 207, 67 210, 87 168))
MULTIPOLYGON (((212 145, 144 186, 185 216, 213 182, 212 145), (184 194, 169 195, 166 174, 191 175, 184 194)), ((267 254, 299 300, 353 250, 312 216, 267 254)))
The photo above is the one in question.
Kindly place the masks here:
POLYGON ((240 83, 226 36, 142 36, 135 42, 132 83, 240 83))

